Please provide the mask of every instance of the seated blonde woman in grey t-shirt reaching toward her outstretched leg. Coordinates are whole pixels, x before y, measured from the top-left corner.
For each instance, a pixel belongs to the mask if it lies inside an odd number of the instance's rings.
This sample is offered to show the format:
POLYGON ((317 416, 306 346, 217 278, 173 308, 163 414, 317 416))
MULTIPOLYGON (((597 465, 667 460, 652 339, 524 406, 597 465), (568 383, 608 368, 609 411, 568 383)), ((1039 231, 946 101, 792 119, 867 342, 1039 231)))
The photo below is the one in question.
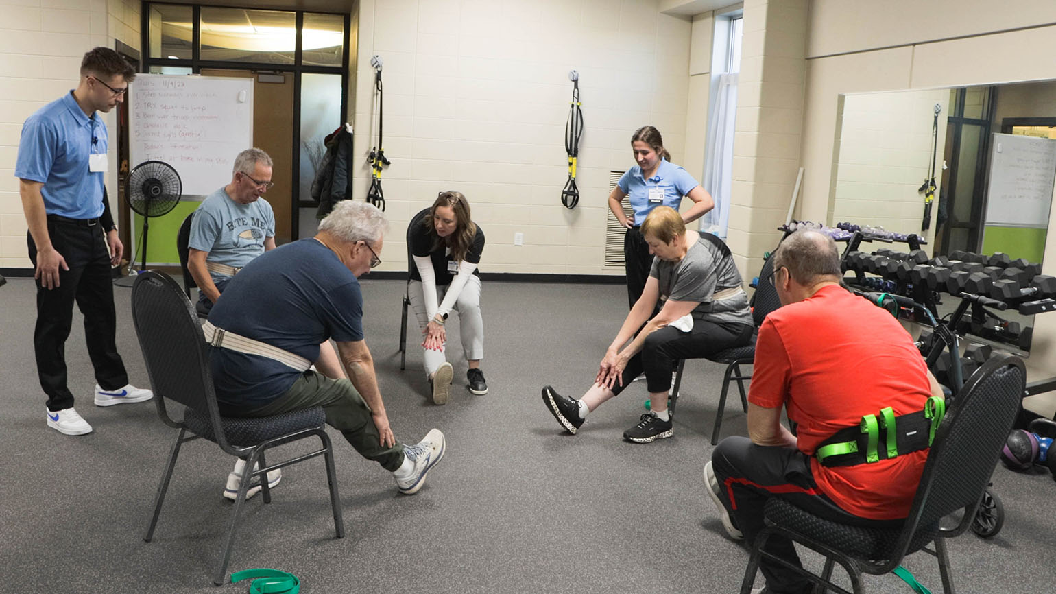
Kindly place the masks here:
POLYGON ((624 431, 623 439, 650 443, 672 437, 667 390, 676 361, 705 357, 752 339, 748 295, 721 239, 686 229, 682 217, 668 206, 649 212, 642 235, 654 256, 649 278, 605 352, 593 386, 580 400, 563 396, 550 386, 543 388, 546 407, 571 433, 588 412, 644 371, 653 410, 624 431), (656 308, 659 313, 649 319, 656 308))

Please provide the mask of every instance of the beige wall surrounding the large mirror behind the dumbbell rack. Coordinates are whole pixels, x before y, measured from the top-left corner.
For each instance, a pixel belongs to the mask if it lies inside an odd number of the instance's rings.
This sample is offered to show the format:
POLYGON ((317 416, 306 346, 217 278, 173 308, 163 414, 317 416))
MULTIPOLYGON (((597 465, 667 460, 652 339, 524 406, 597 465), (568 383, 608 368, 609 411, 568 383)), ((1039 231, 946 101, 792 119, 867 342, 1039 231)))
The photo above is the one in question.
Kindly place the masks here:
MULTIPOLYGON (((1041 0, 1015 4, 1014 11, 994 11, 984 0, 934 0, 922 10, 912 0, 813 0, 802 144, 806 171, 798 216, 822 220, 829 209, 841 94, 1056 78, 1056 61, 1036 59, 1056 52, 1056 4, 1041 0)), ((1044 272, 1053 274, 1056 221, 1052 218, 1049 229, 1044 272)), ((1056 318, 1037 316, 1027 360, 1031 380, 1056 374, 1054 341, 1056 318)), ((1050 415, 1056 409, 1052 394, 1024 404, 1050 415)))

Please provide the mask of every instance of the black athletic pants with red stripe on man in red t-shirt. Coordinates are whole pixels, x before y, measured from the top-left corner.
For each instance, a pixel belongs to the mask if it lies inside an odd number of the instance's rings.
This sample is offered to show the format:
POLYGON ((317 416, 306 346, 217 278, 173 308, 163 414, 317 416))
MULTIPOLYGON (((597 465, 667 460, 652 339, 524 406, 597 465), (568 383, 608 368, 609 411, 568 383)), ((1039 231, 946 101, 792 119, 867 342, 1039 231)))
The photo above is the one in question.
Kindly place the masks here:
MULTIPOLYGON (((744 437, 727 438, 712 451, 712 470, 721 487, 723 505, 749 544, 763 528, 762 507, 779 497, 811 514, 864 527, 897 527, 902 520, 869 520, 848 514, 826 497, 814 482, 810 458, 789 447, 755 445, 744 437)), ((766 551, 794 564, 799 556, 792 541, 780 535, 767 540, 766 551)), ((800 565, 802 567, 802 565, 800 565)), ((811 592, 810 581, 792 570, 762 558, 759 570, 773 594, 811 592)))

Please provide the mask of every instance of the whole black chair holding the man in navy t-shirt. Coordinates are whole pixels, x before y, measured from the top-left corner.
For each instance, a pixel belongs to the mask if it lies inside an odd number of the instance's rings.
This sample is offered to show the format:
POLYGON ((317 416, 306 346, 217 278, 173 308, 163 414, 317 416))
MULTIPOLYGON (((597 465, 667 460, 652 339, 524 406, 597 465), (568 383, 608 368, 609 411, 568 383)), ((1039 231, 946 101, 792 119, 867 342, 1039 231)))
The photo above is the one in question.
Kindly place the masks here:
MULTIPOLYGON (((165 274, 148 271, 136 277, 132 285, 132 320, 139 338, 139 348, 143 350, 151 389, 154 391, 157 414, 166 425, 178 429, 154 497, 153 515, 144 534, 144 540, 150 542, 153 538, 181 447, 185 442, 199 438, 213 442, 230 456, 245 459, 247 469, 253 468, 254 464, 259 463, 260 469, 252 474, 260 479, 264 503, 271 502, 266 479, 269 470, 318 456, 324 457, 334 527, 337 538, 343 538, 344 522, 341 519, 334 470, 334 449, 326 434, 323 409, 317 407, 254 419, 221 416, 209 373, 208 347, 202 335, 197 316, 187 295, 165 274), (183 414, 174 419, 170 414, 173 412, 169 408, 170 403, 181 405, 174 409, 183 408, 183 414), (309 438, 318 438, 321 447, 283 462, 270 465, 265 462, 265 450, 309 438)), ((231 558, 239 513, 246 500, 250 483, 249 477, 242 481, 231 509, 223 559, 213 579, 216 586, 227 579, 227 564, 231 558)))

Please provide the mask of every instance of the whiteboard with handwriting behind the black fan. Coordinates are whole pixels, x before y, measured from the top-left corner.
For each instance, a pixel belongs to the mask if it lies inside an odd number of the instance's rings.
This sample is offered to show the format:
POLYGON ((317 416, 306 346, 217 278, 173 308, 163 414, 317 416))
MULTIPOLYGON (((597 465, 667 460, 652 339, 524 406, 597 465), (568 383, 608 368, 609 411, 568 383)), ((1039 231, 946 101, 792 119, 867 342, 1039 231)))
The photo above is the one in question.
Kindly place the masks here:
POLYGON ((130 166, 168 163, 185 198, 230 182, 234 156, 253 146, 252 78, 139 74, 129 92, 130 166))

